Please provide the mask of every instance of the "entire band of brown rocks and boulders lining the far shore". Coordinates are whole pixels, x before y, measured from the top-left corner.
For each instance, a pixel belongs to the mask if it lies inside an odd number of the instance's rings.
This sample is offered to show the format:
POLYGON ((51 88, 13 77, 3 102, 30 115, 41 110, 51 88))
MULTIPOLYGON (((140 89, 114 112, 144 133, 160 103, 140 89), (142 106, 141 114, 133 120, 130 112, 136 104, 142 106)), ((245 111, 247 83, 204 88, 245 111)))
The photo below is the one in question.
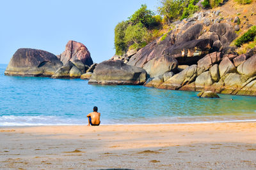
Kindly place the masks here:
POLYGON ((93 64, 86 46, 76 41, 68 41, 61 55, 20 48, 4 74, 256 96, 256 47, 238 55, 230 46, 237 37, 236 18, 214 20, 218 15, 205 11, 173 22, 165 38, 100 64, 93 64))

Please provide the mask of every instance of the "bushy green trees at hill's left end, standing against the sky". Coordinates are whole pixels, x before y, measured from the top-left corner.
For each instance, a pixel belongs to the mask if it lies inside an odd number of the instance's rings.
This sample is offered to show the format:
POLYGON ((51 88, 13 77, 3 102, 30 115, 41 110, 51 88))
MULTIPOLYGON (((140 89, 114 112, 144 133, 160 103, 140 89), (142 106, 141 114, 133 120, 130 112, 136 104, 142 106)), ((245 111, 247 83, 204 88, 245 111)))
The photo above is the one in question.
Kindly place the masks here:
POLYGON ((116 55, 123 55, 129 47, 142 48, 150 39, 149 31, 161 24, 161 16, 147 10, 147 5, 134 12, 129 20, 118 23, 115 27, 116 55))

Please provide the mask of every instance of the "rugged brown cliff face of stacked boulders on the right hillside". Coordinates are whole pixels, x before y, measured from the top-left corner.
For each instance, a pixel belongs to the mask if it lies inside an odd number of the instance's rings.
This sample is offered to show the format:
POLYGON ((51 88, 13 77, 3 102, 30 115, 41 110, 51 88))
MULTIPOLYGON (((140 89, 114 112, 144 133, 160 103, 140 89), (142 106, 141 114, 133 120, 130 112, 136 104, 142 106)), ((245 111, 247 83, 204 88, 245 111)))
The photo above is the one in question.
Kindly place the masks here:
MULTIPOLYGON (((147 87, 256 96, 256 47, 242 55, 235 52, 230 43, 238 36, 237 17, 226 13, 204 11, 174 22, 165 39, 141 48, 127 64, 147 71, 147 87)), ((243 18, 247 23, 239 29, 256 24, 253 13, 243 18)))

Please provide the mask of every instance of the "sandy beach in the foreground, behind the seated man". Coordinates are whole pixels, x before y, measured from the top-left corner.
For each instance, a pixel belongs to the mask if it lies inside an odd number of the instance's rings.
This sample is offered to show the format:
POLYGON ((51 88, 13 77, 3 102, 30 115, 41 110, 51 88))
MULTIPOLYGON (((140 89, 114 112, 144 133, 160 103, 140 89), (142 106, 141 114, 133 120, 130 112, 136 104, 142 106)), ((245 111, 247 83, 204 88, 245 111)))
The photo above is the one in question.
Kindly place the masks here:
POLYGON ((256 123, 0 128, 0 169, 256 169, 256 123))

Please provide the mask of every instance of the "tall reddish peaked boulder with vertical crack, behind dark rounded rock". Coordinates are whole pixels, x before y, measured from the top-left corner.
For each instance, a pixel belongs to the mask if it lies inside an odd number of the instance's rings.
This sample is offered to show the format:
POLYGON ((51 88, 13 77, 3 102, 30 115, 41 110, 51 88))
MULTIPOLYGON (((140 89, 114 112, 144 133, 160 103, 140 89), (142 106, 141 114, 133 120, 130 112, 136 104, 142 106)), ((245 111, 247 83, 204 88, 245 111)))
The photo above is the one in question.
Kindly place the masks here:
POLYGON ((90 52, 82 43, 76 41, 68 41, 65 51, 61 53, 60 60, 63 64, 67 64, 68 61, 81 60, 83 64, 91 66, 93 60, 90 52))

